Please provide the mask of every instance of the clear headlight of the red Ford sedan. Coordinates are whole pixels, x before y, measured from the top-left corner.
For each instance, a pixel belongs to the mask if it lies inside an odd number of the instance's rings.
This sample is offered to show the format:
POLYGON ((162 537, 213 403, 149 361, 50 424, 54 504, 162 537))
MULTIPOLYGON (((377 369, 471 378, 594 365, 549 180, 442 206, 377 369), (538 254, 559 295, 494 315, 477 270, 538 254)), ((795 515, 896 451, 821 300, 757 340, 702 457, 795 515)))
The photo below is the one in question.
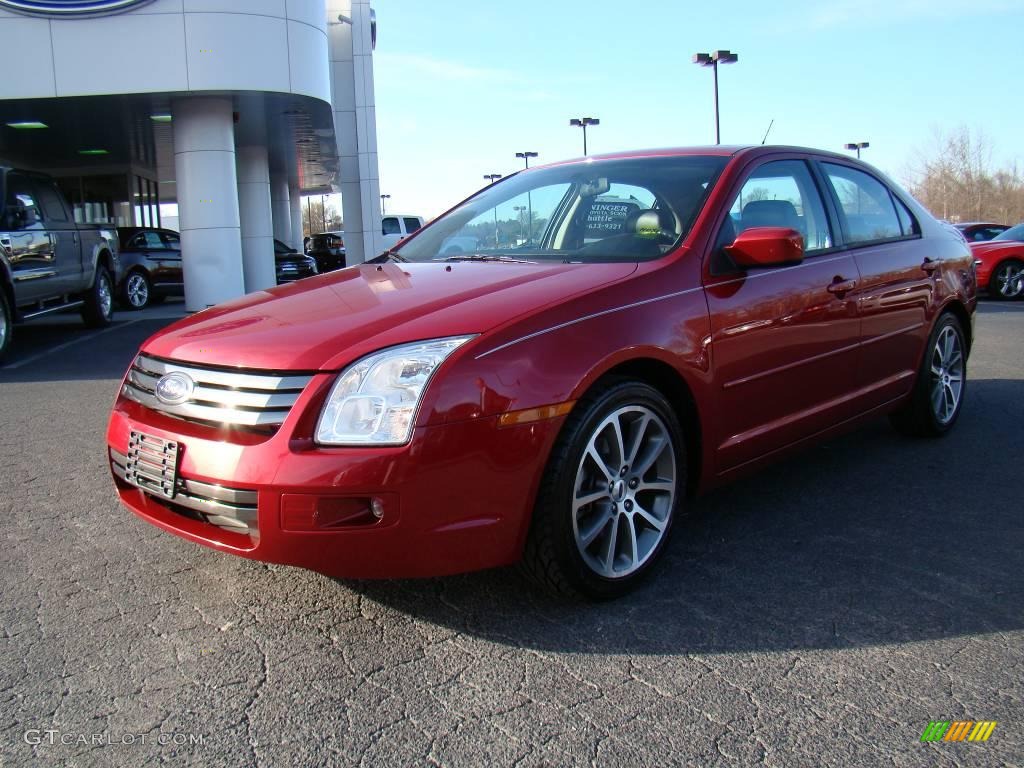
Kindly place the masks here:
POLYGON ((401 445, 416 423, 423 390, 437 367, 472 336, 402 344, 356 360, 327 398, 316 442, 401 445))

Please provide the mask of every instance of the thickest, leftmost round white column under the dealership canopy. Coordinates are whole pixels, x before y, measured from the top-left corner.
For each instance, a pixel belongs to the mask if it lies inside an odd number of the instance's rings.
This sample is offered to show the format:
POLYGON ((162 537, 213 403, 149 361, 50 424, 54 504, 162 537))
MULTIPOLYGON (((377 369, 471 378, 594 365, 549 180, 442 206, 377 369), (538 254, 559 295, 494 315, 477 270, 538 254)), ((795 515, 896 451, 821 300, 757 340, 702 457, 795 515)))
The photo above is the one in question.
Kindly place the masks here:
POLYGON ((196 312, 245 294, 231 99, 193 96, 171 110, 185 309, 196 312))

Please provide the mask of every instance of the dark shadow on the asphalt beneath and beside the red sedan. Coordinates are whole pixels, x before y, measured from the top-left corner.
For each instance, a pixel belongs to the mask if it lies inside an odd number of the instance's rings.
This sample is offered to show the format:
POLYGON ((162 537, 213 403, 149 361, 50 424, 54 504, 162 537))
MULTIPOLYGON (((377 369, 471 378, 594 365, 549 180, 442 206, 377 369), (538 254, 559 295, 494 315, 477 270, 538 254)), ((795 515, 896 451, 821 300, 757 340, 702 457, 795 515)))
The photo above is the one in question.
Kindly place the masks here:
POLYGON ((1024 382, 978 380, 943 439, 886 421, 691 503, 664 562, 609 603, 515 569, 345 582, 496 643, 558 652, 733 652, 908 643, 1024 627, 1024 382))

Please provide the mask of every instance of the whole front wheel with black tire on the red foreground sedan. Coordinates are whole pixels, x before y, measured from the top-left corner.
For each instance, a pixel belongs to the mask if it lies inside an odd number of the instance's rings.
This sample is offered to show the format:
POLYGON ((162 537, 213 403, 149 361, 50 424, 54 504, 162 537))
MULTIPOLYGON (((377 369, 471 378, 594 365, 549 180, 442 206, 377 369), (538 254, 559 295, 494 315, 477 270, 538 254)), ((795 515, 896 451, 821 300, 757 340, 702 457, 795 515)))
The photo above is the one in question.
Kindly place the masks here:
POLYGON ((589 392, 548 460, 523 553, 526 575, 556 594, 596 600, 634 589, 682 506, 685 450, 679 420, 653 387, 612 380, 589 392), (646 459, 637 472, 629 463, 639 457, 646 459))

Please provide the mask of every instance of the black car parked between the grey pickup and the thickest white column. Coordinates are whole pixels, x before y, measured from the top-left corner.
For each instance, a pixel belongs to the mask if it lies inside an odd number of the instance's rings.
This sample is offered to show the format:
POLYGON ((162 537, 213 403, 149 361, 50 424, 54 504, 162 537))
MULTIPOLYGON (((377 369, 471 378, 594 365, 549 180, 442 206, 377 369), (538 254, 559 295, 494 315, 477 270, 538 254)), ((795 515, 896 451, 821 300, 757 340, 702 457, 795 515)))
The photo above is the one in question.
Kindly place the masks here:
POLYGON ((181 237, 173 229, 118 227, 121 280, 118 299, 126 309, 143 309, 168 296, 183 296, 181 237))

